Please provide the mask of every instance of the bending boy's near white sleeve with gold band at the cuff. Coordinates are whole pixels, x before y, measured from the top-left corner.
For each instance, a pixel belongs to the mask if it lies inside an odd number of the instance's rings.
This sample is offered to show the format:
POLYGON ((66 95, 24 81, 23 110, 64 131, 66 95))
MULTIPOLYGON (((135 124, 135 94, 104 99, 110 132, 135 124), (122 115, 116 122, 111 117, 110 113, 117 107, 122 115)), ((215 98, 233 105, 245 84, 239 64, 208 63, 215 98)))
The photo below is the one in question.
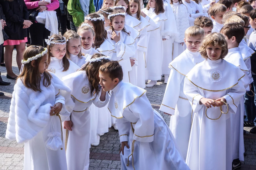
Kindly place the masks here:
POLYGON ((129 110, 139 118, 134 126, 133 139, 139 142, 152 142, 154 140, 154 110, 146 94, 135 99, 129 110))

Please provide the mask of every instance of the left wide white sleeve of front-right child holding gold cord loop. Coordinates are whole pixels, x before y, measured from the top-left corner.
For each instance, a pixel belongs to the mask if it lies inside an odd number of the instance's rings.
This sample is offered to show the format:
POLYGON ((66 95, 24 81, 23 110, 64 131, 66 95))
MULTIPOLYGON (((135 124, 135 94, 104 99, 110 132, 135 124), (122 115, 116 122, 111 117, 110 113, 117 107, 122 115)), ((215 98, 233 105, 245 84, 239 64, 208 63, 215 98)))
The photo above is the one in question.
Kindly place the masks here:
POLYGON ((200 94, 198 87, 185 78, 183 91, 187 96, 193 111, 198 112, 204 106, 203 104, 199 104, 199 101, 204 98, 204 96, 200 94))

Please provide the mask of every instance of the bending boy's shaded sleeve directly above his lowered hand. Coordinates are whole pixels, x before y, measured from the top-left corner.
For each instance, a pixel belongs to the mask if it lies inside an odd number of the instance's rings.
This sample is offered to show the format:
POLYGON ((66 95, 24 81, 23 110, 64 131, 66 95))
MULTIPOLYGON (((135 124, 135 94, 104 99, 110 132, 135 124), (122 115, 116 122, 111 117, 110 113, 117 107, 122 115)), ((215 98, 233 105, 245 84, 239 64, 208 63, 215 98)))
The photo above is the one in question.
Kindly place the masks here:
POLYGON ((116 122, 118 125, 121 125, 118 126, 120 142, 128 141, 128 134, 131 129, 131 123, 127 121, 124 117, 116 119, 116 122))

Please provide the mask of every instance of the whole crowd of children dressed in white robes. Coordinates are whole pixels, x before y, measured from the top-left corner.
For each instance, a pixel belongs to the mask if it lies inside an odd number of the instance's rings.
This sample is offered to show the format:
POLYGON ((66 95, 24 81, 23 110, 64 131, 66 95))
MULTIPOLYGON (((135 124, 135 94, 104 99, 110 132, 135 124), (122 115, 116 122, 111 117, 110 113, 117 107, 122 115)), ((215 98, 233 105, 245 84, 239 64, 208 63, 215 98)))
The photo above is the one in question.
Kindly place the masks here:
POLYGON ((141 2, 104 0, 77 32, 24 51, 6 138, 25 143, 25 169, 88 169, 111 126, 122 169, 241 167, 243 126, 256 125, 255 1, 141 2), (162 76, 169 127, 144 90, 162 76))

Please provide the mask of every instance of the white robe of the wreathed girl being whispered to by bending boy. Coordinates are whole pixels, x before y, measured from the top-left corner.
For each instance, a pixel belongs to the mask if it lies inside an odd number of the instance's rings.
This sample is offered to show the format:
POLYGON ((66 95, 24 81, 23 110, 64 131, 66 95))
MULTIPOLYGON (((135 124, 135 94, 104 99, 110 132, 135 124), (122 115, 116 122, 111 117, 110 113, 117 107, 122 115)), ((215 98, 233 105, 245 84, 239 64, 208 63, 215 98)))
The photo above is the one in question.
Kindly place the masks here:
MULTIPOLYGON (((105 106, 109 101, 109 94, 106 94, 105 101, 100 101, 101 91, 99 95, 91 95, 91 85, 86 72, 83 70, 63 77, 62 81, 71 88, 71 98, 75 103, 71 112, 73 127, 72 131, 68 131, 66 144, 68 170, 88 169, 91 146, 91 113, 89 107, 92 103, 97 107, 105 106)), ((63 129, 63 131, 66 132, 67 130, 63 129)))

